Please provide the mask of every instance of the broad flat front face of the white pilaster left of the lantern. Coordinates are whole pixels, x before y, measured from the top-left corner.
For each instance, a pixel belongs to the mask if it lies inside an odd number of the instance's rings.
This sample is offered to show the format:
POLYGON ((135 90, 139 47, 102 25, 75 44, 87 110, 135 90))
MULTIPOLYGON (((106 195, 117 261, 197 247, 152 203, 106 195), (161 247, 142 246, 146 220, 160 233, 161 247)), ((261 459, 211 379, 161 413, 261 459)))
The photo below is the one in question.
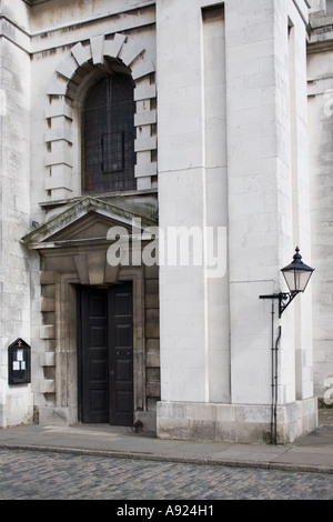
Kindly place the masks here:
POLYGON ((232 402, 263 404, 271 325, 259 295, 279 288, 279 33, 272 2, 229 2, 225 23, 232 402))

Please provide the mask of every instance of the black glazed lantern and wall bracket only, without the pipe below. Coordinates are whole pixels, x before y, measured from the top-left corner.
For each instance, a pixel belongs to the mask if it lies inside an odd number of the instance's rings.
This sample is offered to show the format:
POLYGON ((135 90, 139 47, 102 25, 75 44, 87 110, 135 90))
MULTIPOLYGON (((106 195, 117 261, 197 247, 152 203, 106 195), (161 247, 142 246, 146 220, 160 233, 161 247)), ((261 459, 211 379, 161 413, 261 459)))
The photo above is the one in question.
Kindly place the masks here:
POLYGON ((284 267, 284 269, 281 269, 290 291, 273 293, 272 295, 260 295, 260 299, 279 299, 279 318, 281 318, 286 307, 295 299, 297 293, 304 292, 313 271, 314 269, 303 263, 297 247, 293 261, 287 267, 284 267))

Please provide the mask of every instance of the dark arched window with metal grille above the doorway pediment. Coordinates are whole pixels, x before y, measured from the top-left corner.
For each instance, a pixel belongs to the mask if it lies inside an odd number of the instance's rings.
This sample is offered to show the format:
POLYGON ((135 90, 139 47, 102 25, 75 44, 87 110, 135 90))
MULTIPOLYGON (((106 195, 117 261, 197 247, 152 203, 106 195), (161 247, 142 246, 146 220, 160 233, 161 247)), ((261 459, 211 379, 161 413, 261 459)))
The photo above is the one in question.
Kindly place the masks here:
POLYGON ((105 76, 88 92, 83 108, 83 191, 135 189, 134 94, 127 76, 105 76))

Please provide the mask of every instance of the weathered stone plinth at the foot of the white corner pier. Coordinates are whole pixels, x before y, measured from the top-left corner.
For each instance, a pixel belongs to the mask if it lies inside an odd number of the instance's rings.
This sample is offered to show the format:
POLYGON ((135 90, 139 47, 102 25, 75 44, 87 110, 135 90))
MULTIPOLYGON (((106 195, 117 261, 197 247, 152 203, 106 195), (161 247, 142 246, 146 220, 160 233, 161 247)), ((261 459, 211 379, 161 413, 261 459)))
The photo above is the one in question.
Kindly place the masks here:
MULTIPOLYGON (((315 398, 278 408, 279 444, 293 442, 315 428, 315 398)), ((157 434, 160 439, 241 444, 269 442, 271 405, 158 402, 157 434)))

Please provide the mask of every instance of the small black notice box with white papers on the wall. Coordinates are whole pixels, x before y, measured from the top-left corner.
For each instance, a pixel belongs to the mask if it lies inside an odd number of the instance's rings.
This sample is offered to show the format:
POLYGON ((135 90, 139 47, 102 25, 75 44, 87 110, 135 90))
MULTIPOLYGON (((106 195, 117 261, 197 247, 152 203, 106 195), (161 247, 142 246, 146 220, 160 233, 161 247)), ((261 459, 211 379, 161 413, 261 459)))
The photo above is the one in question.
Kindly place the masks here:
POLYGON ((8 347, 8 383, 28 384, 30 381, 30 350, 23 339, 17 339, 8 347))

